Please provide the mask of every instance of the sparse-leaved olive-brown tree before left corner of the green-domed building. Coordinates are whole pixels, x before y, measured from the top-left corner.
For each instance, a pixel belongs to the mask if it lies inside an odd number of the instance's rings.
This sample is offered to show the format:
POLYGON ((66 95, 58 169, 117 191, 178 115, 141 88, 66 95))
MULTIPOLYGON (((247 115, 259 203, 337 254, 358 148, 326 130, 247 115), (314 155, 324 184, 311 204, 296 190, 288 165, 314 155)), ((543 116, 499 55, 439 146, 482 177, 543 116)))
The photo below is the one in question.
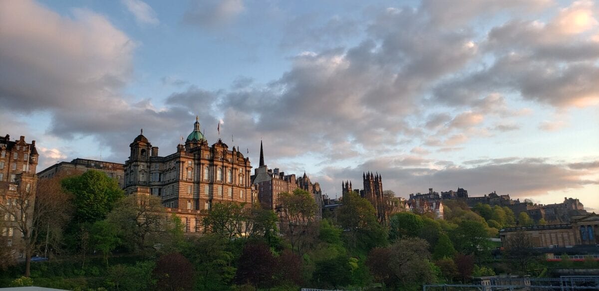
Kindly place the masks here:
POLYGON ((169 225, 160 198, 137 194, 119 200, 108 214, 108 222, 118 227, 119 237, 129 249, 142 252, 154 245, 149 238, 158 237, 169 225))

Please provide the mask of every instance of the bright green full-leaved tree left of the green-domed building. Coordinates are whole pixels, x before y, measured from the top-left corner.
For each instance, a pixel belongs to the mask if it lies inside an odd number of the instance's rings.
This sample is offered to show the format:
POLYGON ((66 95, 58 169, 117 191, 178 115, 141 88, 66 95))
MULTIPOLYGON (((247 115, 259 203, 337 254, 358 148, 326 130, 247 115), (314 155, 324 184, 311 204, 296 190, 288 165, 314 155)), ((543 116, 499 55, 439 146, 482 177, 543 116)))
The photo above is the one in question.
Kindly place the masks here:
POLYGON ((93 223, 106 218, 124 195, 116 180, 95 170, 63 179, 62 188, 74 195, 72 222, 75 223, 93 223))

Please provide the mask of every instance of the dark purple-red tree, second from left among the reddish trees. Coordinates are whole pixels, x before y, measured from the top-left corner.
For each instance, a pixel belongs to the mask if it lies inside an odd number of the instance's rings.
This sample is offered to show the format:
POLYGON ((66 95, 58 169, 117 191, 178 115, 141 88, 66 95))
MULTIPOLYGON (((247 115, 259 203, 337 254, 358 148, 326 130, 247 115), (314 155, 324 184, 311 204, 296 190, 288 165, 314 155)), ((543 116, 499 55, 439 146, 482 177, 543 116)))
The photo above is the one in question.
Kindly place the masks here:
POLYGON ((235 281, 259 288, 272 287, 275 284, 276 265, 277 261, 265 243, 249 242, 239 258, 235 281))

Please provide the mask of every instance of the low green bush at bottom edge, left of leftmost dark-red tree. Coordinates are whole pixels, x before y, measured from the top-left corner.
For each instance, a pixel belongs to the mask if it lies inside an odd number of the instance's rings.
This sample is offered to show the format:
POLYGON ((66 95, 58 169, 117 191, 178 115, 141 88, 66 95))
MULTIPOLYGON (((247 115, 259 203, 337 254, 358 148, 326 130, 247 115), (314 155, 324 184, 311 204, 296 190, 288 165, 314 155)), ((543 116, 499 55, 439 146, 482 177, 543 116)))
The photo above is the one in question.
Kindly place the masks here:
POLYGON ((152 278, 155 267, 152 261, 136 262, 134 266, 116 265, 108 269, 106 281, 117 291, 150 290, 156 284, 155 278, 152 278))

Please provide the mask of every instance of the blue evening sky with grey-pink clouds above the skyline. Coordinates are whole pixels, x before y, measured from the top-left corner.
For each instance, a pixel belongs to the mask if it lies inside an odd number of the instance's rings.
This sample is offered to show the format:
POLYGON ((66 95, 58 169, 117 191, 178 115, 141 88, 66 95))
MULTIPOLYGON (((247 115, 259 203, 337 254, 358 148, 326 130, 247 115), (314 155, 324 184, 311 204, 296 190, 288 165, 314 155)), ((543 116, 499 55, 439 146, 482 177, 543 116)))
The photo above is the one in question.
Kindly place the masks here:
POLYGON ((38 170, 124 163, 143 128, 396 195, 576 197, 599 212, 594 1, 0 1, 0 134, 38 170))

